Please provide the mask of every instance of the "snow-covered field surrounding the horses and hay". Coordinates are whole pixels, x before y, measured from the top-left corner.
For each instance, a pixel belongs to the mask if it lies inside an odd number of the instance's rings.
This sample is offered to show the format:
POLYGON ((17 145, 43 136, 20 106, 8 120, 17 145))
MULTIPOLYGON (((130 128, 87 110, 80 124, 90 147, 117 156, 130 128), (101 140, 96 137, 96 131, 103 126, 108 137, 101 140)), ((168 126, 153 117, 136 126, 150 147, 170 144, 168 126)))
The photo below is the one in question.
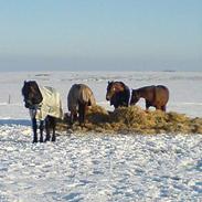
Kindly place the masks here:
MULTIPOLYGON (((201 135, 64 132, 54 143, 32 145, 21 96, 24 79, 55 87, 65 111, 74 83, 89 85, 108 109, 108 81, 131 88, 163 84, 170 89, 168 110, 202 117, 202 73, 1 73, 0 201, 202 201, 201 135)), ((142 100, 139 105, 145 107, 142 100)))

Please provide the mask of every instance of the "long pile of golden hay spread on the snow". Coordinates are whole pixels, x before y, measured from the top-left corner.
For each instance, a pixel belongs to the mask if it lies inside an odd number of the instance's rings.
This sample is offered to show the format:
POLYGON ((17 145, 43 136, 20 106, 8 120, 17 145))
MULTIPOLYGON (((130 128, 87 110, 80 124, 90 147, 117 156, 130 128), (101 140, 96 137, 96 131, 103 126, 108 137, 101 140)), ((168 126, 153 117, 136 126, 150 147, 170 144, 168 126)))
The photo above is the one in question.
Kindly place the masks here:
MULTIPOLYGON (((60 123, 60 129, 67 129, 68 116, 60 123)), ((202 134, 202 118, 189 118, 183 114, 146 111, 138 106, 120 107, 107 111, 100 106, 89 108, 85 127, 75 123, 73 131, 121 132, 121 134, 202 134)))

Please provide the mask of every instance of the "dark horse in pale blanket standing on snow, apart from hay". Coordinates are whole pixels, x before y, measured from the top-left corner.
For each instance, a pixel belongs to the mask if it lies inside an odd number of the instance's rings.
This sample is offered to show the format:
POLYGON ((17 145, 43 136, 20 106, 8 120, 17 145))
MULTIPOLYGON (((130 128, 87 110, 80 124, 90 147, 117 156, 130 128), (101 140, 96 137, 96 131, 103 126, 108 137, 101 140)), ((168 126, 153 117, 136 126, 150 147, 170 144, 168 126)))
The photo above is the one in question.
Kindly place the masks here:
POLYGON ((43 130, 45 127, 45 141, 56 140, 56 119, 63 118, 62 103, 60 94, 52 87, 39 86, 35 81, 24 82, 22 87, 24 107, 29 109, 32 129, 33 143, 38 142, 38 121, 40 121, 40 142, 43 142, 43 130), (45 125, 45 126, 44 126, 45 125), (52 127, 52 138, 50 128, 52 127))

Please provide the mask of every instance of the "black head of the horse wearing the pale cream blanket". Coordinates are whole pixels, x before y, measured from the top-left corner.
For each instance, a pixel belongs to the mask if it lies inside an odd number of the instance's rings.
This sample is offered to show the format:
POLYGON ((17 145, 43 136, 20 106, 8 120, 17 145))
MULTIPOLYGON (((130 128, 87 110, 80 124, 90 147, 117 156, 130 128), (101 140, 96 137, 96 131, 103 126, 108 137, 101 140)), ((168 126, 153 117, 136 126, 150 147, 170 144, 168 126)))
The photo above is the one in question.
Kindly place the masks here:
POLYGON ((22 96, 24 97, 24 106, 30 109, 35 108, 43 100, 42 94, 35 81, 24 81, 22 96))

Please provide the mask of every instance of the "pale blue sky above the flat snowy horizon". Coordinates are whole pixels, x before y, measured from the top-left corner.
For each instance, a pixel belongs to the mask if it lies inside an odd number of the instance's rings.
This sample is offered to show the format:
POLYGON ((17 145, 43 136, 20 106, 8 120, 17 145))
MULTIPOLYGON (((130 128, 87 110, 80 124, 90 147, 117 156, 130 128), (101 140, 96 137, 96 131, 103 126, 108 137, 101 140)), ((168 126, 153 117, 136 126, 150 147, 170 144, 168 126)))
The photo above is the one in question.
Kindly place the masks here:
POLYGON ((202 71, 202 0, 0 0, 1 71, 202 71))

